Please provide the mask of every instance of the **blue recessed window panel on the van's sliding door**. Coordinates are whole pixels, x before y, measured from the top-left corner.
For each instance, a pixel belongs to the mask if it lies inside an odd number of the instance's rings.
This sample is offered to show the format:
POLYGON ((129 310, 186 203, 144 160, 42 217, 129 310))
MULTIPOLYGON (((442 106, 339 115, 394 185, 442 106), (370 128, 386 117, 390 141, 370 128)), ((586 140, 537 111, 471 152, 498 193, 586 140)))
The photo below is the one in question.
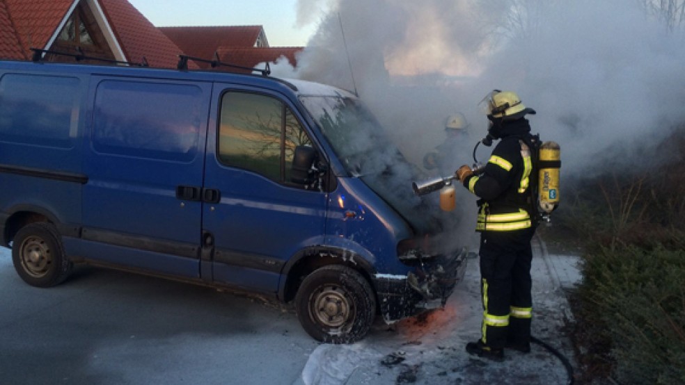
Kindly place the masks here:
POLYGON ((93 148, 103 154, 193 161, 202 101, 195 85, 102 81, 95 96, 93 148))

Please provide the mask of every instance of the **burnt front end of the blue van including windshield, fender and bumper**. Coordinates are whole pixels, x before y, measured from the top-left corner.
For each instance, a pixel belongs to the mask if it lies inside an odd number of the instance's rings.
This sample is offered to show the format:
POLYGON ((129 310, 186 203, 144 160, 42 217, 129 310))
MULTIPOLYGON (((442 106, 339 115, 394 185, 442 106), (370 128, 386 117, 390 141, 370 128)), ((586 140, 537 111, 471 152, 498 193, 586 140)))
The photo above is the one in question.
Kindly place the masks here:
POLYGON ((326 233, 372 266, 381 316, 392 323, 444 306, 469 254, 454 244, 453 213, 414 193, 411 181, 425 176, 356 97, 300 99, 336 155, 329 160, 337 183, 326 233))

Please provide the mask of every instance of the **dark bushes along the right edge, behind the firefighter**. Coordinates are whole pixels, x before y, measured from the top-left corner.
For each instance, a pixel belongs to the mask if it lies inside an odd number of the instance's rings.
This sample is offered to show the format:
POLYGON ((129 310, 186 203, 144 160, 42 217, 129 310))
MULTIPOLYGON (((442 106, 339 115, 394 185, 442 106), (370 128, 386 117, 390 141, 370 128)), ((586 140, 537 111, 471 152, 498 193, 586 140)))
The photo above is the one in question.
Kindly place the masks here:
POLYGON ((588 250, 570 297, 587 382, 685 384, 685 126, 656 154, 564 181, 555 218, 588 250))

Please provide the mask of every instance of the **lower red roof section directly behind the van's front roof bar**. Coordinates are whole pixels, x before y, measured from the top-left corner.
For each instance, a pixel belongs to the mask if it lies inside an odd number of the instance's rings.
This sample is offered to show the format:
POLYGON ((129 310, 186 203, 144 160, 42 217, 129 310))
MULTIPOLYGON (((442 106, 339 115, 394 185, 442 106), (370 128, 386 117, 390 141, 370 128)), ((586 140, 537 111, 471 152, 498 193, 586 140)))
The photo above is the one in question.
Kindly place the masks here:
POLYGON ((254 68, 260 63, 274 63, 281 56, 285 56, 290 65, 295 66, 297 54, 302 50, 302 47, 220 47, 216 52, 223 63, 254 68))

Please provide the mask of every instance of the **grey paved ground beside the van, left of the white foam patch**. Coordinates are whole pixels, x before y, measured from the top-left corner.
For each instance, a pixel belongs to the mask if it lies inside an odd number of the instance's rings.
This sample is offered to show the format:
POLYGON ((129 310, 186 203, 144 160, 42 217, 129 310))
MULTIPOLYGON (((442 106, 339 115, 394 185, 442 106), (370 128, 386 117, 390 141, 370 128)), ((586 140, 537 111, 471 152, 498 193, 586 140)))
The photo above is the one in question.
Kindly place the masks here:
POLYGON ((33 288, 0 254, 0 384, 292 384, 317 347, 259 299, 81 269, 33 288))

